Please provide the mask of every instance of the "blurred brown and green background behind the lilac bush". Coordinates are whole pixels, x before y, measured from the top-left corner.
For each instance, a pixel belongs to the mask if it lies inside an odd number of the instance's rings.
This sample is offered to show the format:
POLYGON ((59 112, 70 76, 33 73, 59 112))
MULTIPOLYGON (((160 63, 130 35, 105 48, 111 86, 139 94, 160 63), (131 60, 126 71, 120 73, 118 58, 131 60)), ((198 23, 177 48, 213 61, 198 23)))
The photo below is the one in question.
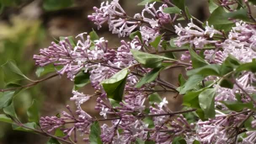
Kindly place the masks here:
MULTIPOLYGON (((120 4, 133 16, 140 13, 142 6, 136 6, 141 0, 120 0, 120 4)), ((99 7, 102 0, 0 0, 0 65, 8 60, 16 61, 17 66, 32 80, 39 79, 35 75, 36 67, 33 54, 38 54, 40 48, 46 48, 51 41, 60 36, 75 36, 82 32, 97 29, 88 21, 87 15, 93 13, 93 6, 99 7)), ((208 16, 206 0, 187 0, 190 13, 204 20, 208 16), (203 3, 202 3, 203 2, 203 3)), ((157 5, 156 5, 157 6, 157 5)), ((158 5, 159 6, 159 5, 158 5)), ((100 37, 109 40, 109 46, 119 45, 120 39, 108 32, 107 25, 100 31, 100 37)), ((125 39, 125 38, 123 38, 125 39)), ((126 39, 125 39, 126 40, 126 39)), ((177 69, 174 73, 183 72, 177 69)), ((163 73, 165 80, 173 82, 175 75, 163 73)), ((29 81, 20 80, 19 84, 26 85, 29 81)), ((176 83, 176 81, 174 81, 176 83)), ((0 69, 0 89, 5 88, 3 70, 0 69)), ((14 98, 16 113, 20 120, 27 122, 27 109, 33 99, 40 102, 41 116, 56 115, 65 109, 72 96, 73 82, 64 76, 54 77, 35 87, 26 89, 14 98)), ((82 89, 84 93, 93 93, 88 85, 82 89)), ((168 95, 168 93, 165 93, 168 95)), ((179 109, 181 99, 168 97, 171 109, 179 109)), ((97 115, 94 111, 95 99, 91 99, 85 111, 97 115)), ((3 113, 3 112, 1 112, 3 113)), ((33 133, 13 131, 10 124, 0 122, 0 144, 44 144, 48 138, 33 133)))

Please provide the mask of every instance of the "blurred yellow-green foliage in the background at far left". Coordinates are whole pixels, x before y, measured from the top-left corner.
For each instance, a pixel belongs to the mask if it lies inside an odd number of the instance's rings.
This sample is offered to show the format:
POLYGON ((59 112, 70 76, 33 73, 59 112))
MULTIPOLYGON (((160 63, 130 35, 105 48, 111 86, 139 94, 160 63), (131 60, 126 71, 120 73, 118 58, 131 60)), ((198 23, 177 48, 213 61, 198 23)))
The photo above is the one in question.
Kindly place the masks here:
MULTIPOLYGON (((34 75, 35 64, 32 54, 42 44, 45 38, 45 30, 39 20, 26 20, 19 16, 11 17, 9 23, 0 22, 0 65, 8 60, 16 61, 24 75, 34 75), (36 49, 35 49, 36 48, 36 49)), ((0 88, 5 88, 6 83, 3 79, 3 69, 0 69, 0 88)), ((27 80, 18 81, 19 84, 27 84, 27 80)), ((28 90, 19 92, 14 97, 16 113, 21 121, 27 119, 27 109, 32 104, 33 99, 42 100, 40 86, 35 86, 28 90)), ((6 128, 10 125, 0 125, 0 138, 5 137, 6 128)))

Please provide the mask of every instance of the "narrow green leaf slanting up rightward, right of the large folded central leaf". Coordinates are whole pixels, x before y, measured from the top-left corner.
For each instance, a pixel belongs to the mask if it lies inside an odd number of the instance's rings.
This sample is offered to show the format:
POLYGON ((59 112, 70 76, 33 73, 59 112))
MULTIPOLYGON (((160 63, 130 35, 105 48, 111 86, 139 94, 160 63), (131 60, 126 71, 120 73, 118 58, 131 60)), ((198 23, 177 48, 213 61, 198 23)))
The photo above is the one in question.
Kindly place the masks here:
POLYGON ((142 77, 141 80, 139 80, 139 82, 135 85, 135 87, 141 88, 142 85, 146 83, 151 83, 152 81, 154 81, 157 78, 160 70, 161 68, 152 69, 149 73, 147 73, 144 77, 142 77))

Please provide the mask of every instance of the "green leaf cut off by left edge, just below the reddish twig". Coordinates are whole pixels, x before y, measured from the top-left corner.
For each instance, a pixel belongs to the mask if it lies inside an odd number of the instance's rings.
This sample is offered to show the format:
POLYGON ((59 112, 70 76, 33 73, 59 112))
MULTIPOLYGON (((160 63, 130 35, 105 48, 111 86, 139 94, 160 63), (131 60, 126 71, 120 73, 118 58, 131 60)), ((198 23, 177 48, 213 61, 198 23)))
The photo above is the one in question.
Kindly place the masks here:
POLYGON ((11 104, 14 93, 15 91, 6 91, 0 93, 0 109, 3 109, 4 107, 7 107, 11 104))

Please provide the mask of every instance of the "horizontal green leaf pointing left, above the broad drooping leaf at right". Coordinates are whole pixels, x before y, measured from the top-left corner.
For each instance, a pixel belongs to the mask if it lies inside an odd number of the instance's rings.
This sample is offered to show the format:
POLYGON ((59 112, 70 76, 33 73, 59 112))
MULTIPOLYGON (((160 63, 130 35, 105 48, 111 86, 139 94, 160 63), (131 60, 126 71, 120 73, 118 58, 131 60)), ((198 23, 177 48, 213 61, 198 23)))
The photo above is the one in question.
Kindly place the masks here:
POLYGON ((192 70, 187 71, 187 76, 191 76, 191 75, 203 75, 203 76, 216 75, 216 76, 220 76, 219 69, 220 69, 219 64, 206 65, 204 67, 199 67, 197 69, 192 69, 192 70))

